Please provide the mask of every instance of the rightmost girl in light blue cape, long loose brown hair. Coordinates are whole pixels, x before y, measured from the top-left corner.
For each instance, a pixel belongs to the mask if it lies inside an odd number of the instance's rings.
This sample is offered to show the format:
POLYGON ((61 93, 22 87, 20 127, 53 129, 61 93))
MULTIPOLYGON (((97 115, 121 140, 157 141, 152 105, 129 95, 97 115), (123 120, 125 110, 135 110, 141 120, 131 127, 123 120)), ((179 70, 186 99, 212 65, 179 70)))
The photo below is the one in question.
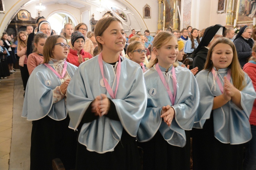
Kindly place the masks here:
POLYGON ((196 80, 200 104, 194 124, 199 129, 193 132, 193 169, 242 169, 243 143, 252 138, 248 119, 256 93, 229 39, 213 43, 196 80))

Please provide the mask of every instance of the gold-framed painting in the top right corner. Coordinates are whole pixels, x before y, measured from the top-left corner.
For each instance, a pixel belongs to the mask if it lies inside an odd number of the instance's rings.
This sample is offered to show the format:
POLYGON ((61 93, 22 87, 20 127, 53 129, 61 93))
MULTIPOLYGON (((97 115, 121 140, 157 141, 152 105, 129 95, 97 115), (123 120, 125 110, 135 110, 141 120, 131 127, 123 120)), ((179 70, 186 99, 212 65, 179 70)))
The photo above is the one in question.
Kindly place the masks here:
POLYGON ((237 23, 252 23, 254 17, 256 17, 256 1, 238 0, 236 11, 237 23))

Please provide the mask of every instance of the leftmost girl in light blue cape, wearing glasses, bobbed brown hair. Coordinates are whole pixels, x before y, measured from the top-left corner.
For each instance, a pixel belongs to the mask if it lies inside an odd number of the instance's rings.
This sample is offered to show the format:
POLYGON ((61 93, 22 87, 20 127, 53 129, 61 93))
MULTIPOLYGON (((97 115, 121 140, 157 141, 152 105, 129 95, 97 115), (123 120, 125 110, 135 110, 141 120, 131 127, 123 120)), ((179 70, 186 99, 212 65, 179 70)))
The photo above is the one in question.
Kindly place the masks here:
POLYGON ((69 129, 66 91, 77 67, 66 62, 69 45, 61 35, 47 38, 44 64, 29 77, 22 117, 32 121, 30 169, 52 169, 60 158, 66 169, 75 168, 76 134, 69 129))

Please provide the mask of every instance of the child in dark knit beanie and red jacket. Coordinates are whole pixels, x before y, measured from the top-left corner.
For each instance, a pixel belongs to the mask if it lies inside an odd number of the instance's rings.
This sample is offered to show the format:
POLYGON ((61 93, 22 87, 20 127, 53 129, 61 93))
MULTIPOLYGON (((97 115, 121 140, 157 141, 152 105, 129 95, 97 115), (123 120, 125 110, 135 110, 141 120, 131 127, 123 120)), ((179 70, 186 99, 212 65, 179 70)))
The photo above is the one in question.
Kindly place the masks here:
POLYGON ((92 58, 90 53, 83 50, 84 43, 85 43, 85 38, 81 32, 75 31, 72 33, 71 44, 74 50, 73 49, 69 50, 67 62, 78 67, 81 63, 92 58))

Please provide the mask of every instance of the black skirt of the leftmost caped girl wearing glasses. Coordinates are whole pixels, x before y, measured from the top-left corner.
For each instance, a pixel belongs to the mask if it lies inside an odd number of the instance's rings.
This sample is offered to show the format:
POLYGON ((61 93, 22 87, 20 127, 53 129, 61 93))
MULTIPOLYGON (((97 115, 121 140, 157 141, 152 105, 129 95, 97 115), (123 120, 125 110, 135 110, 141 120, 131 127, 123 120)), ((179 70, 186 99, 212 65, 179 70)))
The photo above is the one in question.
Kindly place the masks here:
POLYGON ((65 169, 75 168, 76 136, 69 129, 69 116, 56 121, 45 116, 32 121, 30 169, 52 169, 52 160, 60 158, 65 169))

